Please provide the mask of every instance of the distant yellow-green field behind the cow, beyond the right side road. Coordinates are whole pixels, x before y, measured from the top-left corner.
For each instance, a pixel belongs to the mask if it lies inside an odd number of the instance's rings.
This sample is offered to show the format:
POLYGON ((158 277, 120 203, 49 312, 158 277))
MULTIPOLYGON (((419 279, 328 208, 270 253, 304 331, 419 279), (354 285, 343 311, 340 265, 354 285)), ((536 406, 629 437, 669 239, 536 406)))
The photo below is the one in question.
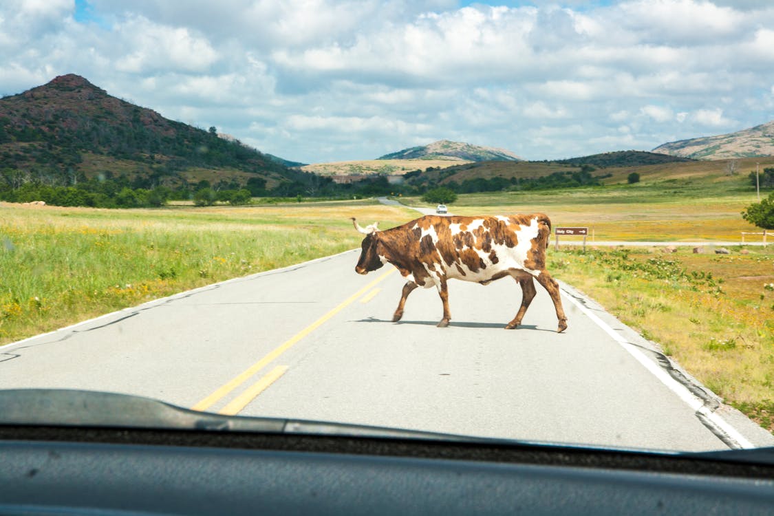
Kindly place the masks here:
MULTIPOLYGON (((587 226, 589 241, 592 235, 601 241, 740 241, 741 231, 760 231, 740 216, 754 201, 746 177, 704 176, 569 190, 472 193, 460 196, 450 211, 543 212, 554 227, 587 226)), ((417 197, 403 202, 430 207, 417 197)))

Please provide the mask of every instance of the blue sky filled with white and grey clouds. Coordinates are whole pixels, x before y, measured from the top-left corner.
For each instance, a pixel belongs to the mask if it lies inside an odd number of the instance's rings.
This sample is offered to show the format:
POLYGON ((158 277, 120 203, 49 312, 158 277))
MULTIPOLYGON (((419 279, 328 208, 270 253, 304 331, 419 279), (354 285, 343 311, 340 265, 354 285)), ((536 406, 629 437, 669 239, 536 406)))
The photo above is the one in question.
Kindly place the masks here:
POLYGON ((0 95, 65 73, 291 161, 561 159, 774 120, 774 2, 3 0, 0 95))

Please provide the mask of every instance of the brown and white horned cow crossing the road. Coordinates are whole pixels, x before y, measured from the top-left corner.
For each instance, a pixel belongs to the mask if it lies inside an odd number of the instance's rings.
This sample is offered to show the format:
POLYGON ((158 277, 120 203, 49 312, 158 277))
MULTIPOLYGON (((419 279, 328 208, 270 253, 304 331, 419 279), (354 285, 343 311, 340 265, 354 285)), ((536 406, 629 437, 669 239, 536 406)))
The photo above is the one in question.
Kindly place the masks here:
POLYGON ((403 316, 406 298, 417 286, 435 286, 444 303, 444 318, 439 327, 449 325, 448 279, 461 279, 488 285, 495 279, 511 276, 522 286, 522 306, 505 326, 512 330, 535 297, 534 279, 546 289, 557 310, 559 328, 567 328, 559 284, 546 271, 546 248, 551 221, 544 214, 495 217, 437 217, 426 215, 402 226, 380 231, 376 223, 355 229, 365 234, 361 244, 358 274, 368 274, 391 263, 408 279, 393 322, 403 316))

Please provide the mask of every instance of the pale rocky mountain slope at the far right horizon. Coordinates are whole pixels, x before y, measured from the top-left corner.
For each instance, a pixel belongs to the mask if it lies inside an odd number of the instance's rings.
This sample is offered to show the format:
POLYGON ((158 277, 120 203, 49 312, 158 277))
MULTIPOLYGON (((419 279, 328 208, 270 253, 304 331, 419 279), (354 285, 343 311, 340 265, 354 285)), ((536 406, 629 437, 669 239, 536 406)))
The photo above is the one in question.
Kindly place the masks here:
POLYGON ((774 155, 774 121, 728 135, 705 136, 659 145, 653 152, 694 159, 733 159, 774 155))

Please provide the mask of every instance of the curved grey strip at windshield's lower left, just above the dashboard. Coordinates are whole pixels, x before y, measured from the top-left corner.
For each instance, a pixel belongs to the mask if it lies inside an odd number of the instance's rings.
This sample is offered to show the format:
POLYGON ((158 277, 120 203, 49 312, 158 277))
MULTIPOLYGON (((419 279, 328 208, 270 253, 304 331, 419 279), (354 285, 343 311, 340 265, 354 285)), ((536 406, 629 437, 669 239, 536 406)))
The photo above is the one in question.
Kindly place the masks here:
POLYGON ((299 433, 464 442, 478 440, 443 433, 368 425, 221 415, 180 408, 140 396, 72 389, 0 391, 0 425, 299 433))

